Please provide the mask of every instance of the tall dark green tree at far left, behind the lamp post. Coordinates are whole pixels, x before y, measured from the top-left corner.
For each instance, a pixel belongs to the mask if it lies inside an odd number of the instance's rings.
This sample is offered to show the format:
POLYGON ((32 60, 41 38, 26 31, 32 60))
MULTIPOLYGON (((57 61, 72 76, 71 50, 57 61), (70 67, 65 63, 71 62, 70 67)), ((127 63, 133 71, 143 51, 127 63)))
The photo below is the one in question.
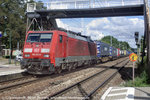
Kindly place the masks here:
MULTIPOLYGON (((4 33, 9 28, 12 33, 12 49, 17 42, 23 45, 26 29, 24 0, 0 0, 0 31, 4 33)), ((2 44, 9 48, 9 32, 7 37, 2 37, 2 44)))

